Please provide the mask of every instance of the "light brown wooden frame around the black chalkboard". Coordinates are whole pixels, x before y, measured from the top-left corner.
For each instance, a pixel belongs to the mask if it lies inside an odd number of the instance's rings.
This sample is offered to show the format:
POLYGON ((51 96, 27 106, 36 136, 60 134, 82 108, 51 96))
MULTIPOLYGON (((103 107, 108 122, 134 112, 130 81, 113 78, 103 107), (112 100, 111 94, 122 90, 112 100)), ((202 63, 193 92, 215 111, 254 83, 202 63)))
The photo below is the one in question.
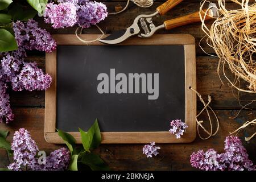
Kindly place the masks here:
MULTIPOLYGON (((100 35, 84 34, 80 35, 82 39, 91 40, 100 35)), ((53 35, 57 46, 65 45, 84 45, 76 35, 53 35)), ((89 43, 89 46, 101 45, 100 42, 89 43)), ((141 39, 137 37, 130 38, 122 45, 183 45, 185 54, 185 122, 188 125, 187 130, 180 139, 168 131, 157 132, 106 132, 101 133, 102 143, 189 143, 196 138, 196 94, 190 87, 196 89, 196 55, 195 39, 191 35, 154 35, 152 38, 141 39)), ((51 87, 46 91, 45 103, 45 121, 44 138, 48 143, 64 143, 56 132, 56 96, 57 96, 57 53, 53 51, 46 53, 46 72, 52 76, 51 87)), ((81 143, 80 133, 69 133, 75 137, 77 143, 81 143)))

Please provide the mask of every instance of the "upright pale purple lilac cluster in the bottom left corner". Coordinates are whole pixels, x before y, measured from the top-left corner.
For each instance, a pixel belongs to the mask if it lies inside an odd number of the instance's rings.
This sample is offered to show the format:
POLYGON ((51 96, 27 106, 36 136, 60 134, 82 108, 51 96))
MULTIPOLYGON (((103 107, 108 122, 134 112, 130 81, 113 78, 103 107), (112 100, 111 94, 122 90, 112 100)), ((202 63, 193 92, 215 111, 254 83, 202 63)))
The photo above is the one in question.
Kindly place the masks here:
POLYGON ((22 167, 31 167, 32 164, 36 163, 35 155, 39 151, 38 146, 27 130, 15 131, 11 150, 14 152, 15 162, 8 166, 9 169, 19 171, 22 167))

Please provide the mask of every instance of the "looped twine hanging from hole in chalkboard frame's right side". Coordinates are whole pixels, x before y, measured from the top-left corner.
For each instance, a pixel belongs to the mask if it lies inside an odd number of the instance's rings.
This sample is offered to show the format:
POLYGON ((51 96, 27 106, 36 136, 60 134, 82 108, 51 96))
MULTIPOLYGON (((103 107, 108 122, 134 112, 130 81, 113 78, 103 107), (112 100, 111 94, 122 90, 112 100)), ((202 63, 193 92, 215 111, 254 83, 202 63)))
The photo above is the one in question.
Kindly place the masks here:
POLYGON ((197 96, 199 97, 199 100, 203 103, 204 105, 204 108, 200 111, 199 114, 196 115, 196 122, 197 122, 197 133, 199 135, 199 137, 203 140, 206 140, 206 139, 209 139, 210 137, 214 136, 217 134, 218 132, 218 129, 219 129, 219 122, 218 122, 218 117, 217 115, 215 114, 214 110, 212 109, 212 107, 209 106, 210 102, 212 101, 212 97, 210 97, 210 95, 208 95, 208 103, 205 103, 205 101, 203 100, 202 96, 200 93, 198 93, 195 89, 193 89, 192 87, 190 88, 191 90, 193 90, 193 92, 195 92, 197 94, 197 96), (213 133, 213 126, 212 126, 212 119, 210 119, 210 113, 209 113, 209 110, 210 109, 214 115, 214 117, 216 118, 216 121, 217 121, 217 129, 216 131, 213 133), (207 111, 207 115, 208 115, 208 118, 209 118, 209 123, 210 123, 210 131, 208 131, 207 129, 205 129, 205 127, 203 126, 203 123, 204 121, 201 120, 199 121, 198 120, 198 117, 203 113, 203 111, 206 110, 207 111), (203 129, 205 131, 205 133, 208 134, 208 137, 201 137, 201 134, 200 134, 200 127, 201 129, 203 129))

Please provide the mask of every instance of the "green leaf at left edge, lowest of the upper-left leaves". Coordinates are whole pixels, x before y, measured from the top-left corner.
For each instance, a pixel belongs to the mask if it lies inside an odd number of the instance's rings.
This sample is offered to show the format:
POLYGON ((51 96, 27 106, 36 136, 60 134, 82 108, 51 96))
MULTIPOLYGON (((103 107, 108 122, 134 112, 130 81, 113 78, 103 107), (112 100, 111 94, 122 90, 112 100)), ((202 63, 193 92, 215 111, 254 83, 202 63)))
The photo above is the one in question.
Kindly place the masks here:
POLYGON ((5 29, 0 29, 0 52, 18 49, 14 36, 5 29))

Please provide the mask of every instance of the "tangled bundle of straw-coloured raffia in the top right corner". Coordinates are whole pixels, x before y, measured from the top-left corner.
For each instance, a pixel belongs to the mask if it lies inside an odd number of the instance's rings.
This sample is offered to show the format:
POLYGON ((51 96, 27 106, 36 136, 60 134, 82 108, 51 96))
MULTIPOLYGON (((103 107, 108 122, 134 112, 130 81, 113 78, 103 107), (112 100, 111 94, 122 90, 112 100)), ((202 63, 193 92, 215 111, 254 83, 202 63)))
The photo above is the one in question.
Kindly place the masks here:
MULTIPOLYGON (((202 29, 207 36, 207 44, 220 58, 218 75, 222 70, 231 86, 242 92, 256 93, 256 0, 250 1, 251 5, 249 0, 232 1, 241 9, 227 10, 225 0, 218 0, 216 20, 208 28, 204 23, 205 17, 201 16, 202 29), (225 65, 234 74, 233 79, 226 76, 225 65), (240 88, 241 80, 246 82, 245 88, 240 88)), ((201 3, 200 11, 206 2, 209 1, 201 3)))

